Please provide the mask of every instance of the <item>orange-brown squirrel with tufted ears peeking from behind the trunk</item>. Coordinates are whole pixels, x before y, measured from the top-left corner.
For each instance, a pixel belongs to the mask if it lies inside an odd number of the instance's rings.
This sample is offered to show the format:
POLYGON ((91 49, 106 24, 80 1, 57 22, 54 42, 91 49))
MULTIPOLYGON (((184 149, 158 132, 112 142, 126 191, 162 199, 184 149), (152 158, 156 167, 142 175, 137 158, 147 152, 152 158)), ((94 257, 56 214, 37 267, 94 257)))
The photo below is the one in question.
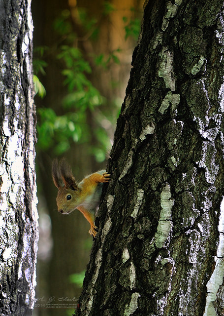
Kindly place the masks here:
POLYGON ((65 159, 60 162, 54 159, 52 163, 53 182, 59 190, 56 198, 58 211, 69 214, 77 208, 90 223, 89 233, 94 238, 97 234, 97 227, 94 224, 96 207, 99 204, 103 183, 108 183, 110 177, 106 170, 100 170, 77 183, 65 159))

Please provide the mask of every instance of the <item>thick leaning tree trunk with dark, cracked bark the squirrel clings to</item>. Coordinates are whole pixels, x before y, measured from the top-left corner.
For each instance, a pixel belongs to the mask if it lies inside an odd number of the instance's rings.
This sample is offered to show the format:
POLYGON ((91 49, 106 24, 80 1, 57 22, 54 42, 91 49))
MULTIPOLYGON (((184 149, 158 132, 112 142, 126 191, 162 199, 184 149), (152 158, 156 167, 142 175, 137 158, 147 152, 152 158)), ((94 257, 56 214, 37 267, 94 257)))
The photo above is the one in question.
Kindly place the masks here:
POLYGON ((223 2, 145 5, 76 315, 224 315, 223 2))

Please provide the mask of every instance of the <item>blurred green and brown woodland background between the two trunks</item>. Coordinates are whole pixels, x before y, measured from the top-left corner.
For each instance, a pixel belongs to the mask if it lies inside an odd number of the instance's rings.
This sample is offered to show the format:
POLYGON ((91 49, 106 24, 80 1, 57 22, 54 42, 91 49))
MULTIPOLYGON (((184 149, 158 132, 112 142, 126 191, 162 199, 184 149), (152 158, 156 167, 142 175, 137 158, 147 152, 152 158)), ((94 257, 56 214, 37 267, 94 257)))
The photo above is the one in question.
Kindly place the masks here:
POLYGON ((81 293, 92 245, 89 224, 78 211, 70 217, 58 213, 51 161, 66 157, 78 180, 104 168, 143 2, 32 1, 40 229, 35 316, 71 315, 46 309, 46 302, 81 293))

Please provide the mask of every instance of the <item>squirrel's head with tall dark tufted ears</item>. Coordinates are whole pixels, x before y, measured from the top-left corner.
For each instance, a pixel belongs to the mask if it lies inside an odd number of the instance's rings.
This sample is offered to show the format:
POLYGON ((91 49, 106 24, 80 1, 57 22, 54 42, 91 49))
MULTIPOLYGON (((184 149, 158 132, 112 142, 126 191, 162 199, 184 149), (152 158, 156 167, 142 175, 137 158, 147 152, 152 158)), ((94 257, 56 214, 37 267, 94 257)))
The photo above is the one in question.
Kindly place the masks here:
POLYGON ((71 167, 62 159, 54 159, 52 163, 52 177, 55 186, 58 188, 56 198, 58 211, 62 214, 71 213, 80 203, 80 189, 72 174, 71 167))

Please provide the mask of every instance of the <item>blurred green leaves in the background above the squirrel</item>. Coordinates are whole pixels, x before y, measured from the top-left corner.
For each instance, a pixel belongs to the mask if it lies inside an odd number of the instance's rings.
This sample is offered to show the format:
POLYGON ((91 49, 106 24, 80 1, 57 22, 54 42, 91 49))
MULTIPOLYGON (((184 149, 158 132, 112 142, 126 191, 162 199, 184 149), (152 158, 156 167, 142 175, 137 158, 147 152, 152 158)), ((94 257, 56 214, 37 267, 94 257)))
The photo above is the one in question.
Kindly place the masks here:
MULTIPOLYGON (((104 1, 102 14, 108 15, 115 7, 104 1)), ((91 18, 85 9, 79 9, 80 24, 91 40, 97 39, 99 29, 96 18, 91 18)), ((140 30, 139 19, 129 19, 123 17, 126 30, 126 39, 129 36, 136 38, 140 30)), ((94 137, 98 145, 90 145, 90 153, 96 161, 105 160, 106 152, 110 147, 110 140, 106 130, 101 124, 102 120, 115 121, 111 118, 111 111, 107 110, 107 100, 100 94, 88 75, 92 73, 90 62, 83 56, 82 51, 76 47, 77 35, 74 33, 69 10, 63 10, 61 16, 56 19, 54 29, 61 37, 60 44, 57 45, 56 58, 64 64, 62 74, 64 75, 64 85, 67 94, 62 100, 64 115, 57 115, 52 108, 37 108, 38 113, 38 143, 41 150, 53 150, 55 155, 61 155, 69 150, 71 142, 88 142, 93 137, 93 131, 88 124, 88 118, 94 117, 96 128, 94 137), (97 110, 96 110, 97 109, 97 110)), ((119 64, 117 53, 120 48, 114 50, 109 55, 103 53, 98 56, 91 56, 95 66, 108 69, 112 63, 119 64)), ((33 59, 33 83, 36 94, 43 98, 46 90, 38 79, 37 75, 45 75, 47 63, 44 61, 45 54, 53 54, 50 48, 43 46, 34 50, 33 59)), ((113 82, 111 82, 113 86, 113 82)), ((114 100, 114 107, 117 100, 114 100)), ((120 104, 121 105, 121 104, 120 104)))

